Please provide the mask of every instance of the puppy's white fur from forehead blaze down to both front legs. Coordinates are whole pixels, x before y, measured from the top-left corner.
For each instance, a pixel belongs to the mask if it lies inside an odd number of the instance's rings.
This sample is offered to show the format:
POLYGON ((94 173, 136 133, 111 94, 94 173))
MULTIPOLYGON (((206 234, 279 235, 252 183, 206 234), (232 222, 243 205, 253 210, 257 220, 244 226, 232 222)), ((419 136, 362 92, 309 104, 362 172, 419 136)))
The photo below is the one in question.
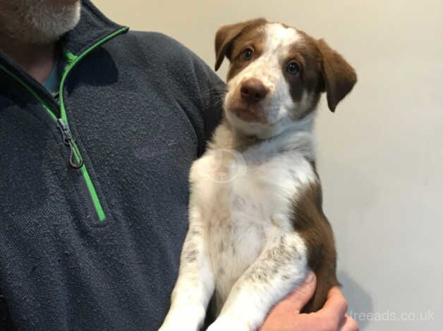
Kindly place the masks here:
POLYGON ((291 117, 294 107, 309 106, 310 96, 294 104, 281 74, 279 59, 297 40, 296 30, 274 23, 265 29, 265 53, 229 85, 233 89, 245 77, 260 76, 272 91, 268 121, 229 116, 193 164, 190 228, 161 331, 198 330, 213 292, 218 317, 208 330, 257 330, 308 272, 307 248, 292 222, 297 196, 317 181, 310 164, 315 113, 291 117), (266 139, 250 142, 238 129, 266 139))

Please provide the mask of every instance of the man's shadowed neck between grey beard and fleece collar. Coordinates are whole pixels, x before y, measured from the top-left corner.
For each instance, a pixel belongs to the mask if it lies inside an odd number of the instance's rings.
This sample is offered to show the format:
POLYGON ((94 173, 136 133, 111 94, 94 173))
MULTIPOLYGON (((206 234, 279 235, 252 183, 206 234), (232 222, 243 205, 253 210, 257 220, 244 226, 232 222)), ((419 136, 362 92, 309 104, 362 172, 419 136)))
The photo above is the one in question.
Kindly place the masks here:
POLYGON ((0 51, 11 57, 37 82, 44 82, 56 62, 56 44, 26 44, 0 32, 0 51))

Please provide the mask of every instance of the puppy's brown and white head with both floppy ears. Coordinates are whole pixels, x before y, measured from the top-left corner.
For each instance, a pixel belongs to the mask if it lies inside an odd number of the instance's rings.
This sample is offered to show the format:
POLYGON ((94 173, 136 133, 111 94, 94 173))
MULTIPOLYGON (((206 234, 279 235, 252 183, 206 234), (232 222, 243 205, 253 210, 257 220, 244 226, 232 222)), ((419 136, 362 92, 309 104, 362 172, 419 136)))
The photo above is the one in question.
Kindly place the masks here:
POLYGON ((291 127, 327 93, 334 111, 356 83, 356 73, 326 42, 263 18, 225 25, 215 37, 217 70, 230 61, 226 118, 260 138, 291 127))

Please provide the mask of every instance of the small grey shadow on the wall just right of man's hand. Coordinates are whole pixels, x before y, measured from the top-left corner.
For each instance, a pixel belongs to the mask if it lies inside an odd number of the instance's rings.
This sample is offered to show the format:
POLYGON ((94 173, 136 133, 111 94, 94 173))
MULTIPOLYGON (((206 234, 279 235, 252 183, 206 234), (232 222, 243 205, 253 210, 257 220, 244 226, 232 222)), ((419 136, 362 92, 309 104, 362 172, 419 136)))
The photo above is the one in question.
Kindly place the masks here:
MULTIPOLYGON (((339 271, 339 282, 343 285, 343 294, 348 299, 348 313, 351 317, 356 319, 356 316, 352 316, 351 311, 354 313, 371 313, 373 311, 374 305, 368 292, 360 287, 360 285, 358 285, 358 283, 353 280, 346 271, 339 271), (350 298, 358 298, 358 301, 352 301, 350 298)), ((367 319, 358 320, 358 318, 357 322, 360 330, 365 330, 370 323, 367 319)))

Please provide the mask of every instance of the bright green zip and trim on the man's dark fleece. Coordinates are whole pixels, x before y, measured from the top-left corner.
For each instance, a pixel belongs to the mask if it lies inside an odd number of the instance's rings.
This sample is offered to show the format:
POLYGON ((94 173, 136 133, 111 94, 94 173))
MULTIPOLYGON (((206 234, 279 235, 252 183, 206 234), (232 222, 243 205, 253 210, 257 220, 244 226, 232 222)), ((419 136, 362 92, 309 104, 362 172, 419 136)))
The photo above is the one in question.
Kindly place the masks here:
POLYGON ((28 89, 30 94, 34 96, 34 98, 40 103, 40 105, 44 108, 45 111, 49 114, 49 116, 57 123, 57 126, 61 130, 61 133, 63 135, 63 139, 66 145, 69 146, 71 149, 71 156, 69 158, 69 163, 73 168, 80 169, 83 178, 85 179, 87 189, 90 193, 92 204, 94 204, 95 211, 97 213, 97 217, 99 218, 100 222, 103 222, 106 219, 106 215, 103 211, 102 203, 100 202, 99 196, 97 195, 97 190, 95 189, 94 184, 92 183, 92 180, 90 178, 89 173, 87 172, 86 165, 83 161, 83 157, 80 154, 80 150, 78 149, 77 144, 75 144, 75 138, 73 137, 71 130, 69 129, 68 124, 68 118, 66 116, 66 108, 63 102, 63 88, 64 84, 66 82, 66 77, 68 77, 71 70, 75 67, 75 65, 81 61, 87 54, 90 54, 91 51, 96 49, 98 46, 104 44, 109 39, 112 39, 116 37, 117 35, 121 35, 128 31, 128 27, 123 27, 120 30, 117 30, 116 32, 112 33, 111 35, 104 37, 96 44, 90 46, 88 49, 83 51, 82 54, 76 56, 75 54, 72 54, 67 49, 63 49, 63 56, 65 56, 65 59, 67 61, 66 67, 63 70, 63 75, 61 76, 61 82, 60 82, 60 89, 59 89, 59 101, 60 101, 60 118, 57 118, 53 111, 51 111, 51 108, 47 105, 47 103, 40 97, 37 92, 35 92, 29 85, 27 85, 23 80, 20 79, 17 75, 14 73, 11 73, 10 70, 6 69, 4 65, 0 64, 1 70, 4 70, 8 75, 11 75, 15 80, 17 80, 20 85, 25 87, 25 89, 28 89))

